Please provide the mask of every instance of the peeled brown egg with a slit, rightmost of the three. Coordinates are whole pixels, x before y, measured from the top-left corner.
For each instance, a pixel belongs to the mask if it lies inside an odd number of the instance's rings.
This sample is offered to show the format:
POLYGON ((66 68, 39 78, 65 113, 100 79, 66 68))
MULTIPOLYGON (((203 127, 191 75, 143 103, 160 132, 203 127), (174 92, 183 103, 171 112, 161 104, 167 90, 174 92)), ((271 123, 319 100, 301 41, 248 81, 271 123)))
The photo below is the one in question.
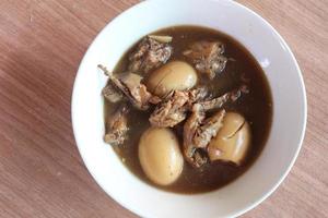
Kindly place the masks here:
POLYGON ((250 144, 250 128, 243 116, 227 112, 223 126, 208 146, 210 159, 232 161, 236 165, 246 157, 250 144))

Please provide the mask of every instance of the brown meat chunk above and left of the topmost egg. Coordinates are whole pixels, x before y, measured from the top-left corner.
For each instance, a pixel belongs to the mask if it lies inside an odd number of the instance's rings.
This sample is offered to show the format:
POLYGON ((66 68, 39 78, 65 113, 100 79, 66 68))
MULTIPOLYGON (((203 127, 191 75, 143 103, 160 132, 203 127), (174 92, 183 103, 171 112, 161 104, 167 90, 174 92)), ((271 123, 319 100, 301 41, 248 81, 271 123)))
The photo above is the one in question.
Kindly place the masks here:
POLYGON ((166 63, 171 58, 173 47, 168 43, 161 43, 154 37, 144 37, 130 57, 131 72, 148 73, 166 63))

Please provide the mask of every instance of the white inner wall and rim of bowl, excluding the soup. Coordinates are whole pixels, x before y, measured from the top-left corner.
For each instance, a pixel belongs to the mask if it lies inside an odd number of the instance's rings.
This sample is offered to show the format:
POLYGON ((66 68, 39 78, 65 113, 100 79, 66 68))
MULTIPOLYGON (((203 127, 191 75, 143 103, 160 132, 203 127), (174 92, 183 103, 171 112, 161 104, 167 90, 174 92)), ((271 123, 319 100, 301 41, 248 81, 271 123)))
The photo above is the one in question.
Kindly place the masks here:
POLYGON ((81 156, 93 178, 115 201, 142 217, 233 217, 268 197, 300 152, 306 125, 301 71, 274 28, 249 9, 229 0, 144 1, 113 20, 94 39, 75 78, 72 123, 81 156), (273 97, 273 121, 265 149, 253 167, 229 185, 204 194, 161 191, 136 178, 103 142, 106 77, 124 52, 142 36, 175 25, 219 29, 241 41, 261 64, 273 97))

